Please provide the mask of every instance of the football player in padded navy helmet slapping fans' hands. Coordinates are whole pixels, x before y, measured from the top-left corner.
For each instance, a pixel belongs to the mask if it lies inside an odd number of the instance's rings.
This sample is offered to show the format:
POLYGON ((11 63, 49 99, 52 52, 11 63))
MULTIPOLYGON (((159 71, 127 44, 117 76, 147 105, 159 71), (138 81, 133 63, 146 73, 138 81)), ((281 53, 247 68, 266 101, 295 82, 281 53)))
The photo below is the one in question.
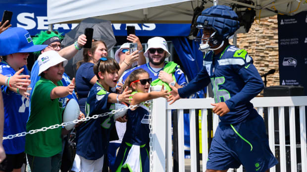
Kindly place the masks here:
MULTIPOLYGON (((203 69, 186 87, 170 86, 170 100, 204 88, 211 82, 213 112, 220 123, 211 143, 206 172, 226 172, 242 164, 247 172, 264 172, 278 162, 268 145, 262 117, 250 100, 263 89, 253 59, 245 50, 228 43, 239 28, 237 14, 228 6, 205 9, 197 19, 203 32, 200 50, 206 52, 203 69)), ((170 104, 171 104, 170 103, 170 104)))

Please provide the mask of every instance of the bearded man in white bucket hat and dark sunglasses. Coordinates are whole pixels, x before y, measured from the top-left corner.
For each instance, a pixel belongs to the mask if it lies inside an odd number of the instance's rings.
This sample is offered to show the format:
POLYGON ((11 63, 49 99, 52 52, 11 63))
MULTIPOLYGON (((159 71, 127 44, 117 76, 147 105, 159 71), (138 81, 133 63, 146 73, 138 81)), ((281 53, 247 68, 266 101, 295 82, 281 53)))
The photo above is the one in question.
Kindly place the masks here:
POLYGON ((128 71, 123 75, 122 83, 124 83, 133 70, 143 68, 153 79, 151 86, 163 84, 164 88, 170 91, 171 89, 168 84, 178 88, 187 84, 185 74, 180 69, 179 65, 174 62, 165 61, 165 58, 169 57, 170 53, 168 51, 167 42, 163 37, 153 37, 149 39, 148 48, 145 51, 144 56, 149 59, 149 63, 128 71))

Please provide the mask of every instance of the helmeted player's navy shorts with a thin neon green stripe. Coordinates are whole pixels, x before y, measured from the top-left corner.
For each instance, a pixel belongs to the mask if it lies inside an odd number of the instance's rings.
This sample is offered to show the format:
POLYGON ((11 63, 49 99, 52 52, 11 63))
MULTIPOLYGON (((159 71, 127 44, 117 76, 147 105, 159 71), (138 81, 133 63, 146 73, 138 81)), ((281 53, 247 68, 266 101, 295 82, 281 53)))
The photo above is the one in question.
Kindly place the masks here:
POLYGON ((232 125, 219 123, 211 142, 207 169, 227 170, 242 164, 247 172, 265 172, 277 163, 260 115, 232 125))

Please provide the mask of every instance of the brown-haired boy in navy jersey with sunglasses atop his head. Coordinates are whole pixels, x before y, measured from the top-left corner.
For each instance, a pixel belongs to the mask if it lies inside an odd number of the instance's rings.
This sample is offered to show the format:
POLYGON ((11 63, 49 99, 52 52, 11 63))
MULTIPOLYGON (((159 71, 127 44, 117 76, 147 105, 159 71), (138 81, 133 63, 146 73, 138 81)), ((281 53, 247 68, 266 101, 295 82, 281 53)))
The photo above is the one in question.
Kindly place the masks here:
MULTIPOLYGON (((132 96, 128 88, 120 95, 115 94, 119 65, 111 58, 100 58, 94 65, 94 73, 99 78, 92 87, 86 101, 86 116, 111 111, 114 103, 126 102, 132 96)), ((114 127, 114 114, 99 117, 82 123, 77 128, 77 154, 81 161, 81 172, 101 172, 103 158, 107 153, 110 130, 114 127)))

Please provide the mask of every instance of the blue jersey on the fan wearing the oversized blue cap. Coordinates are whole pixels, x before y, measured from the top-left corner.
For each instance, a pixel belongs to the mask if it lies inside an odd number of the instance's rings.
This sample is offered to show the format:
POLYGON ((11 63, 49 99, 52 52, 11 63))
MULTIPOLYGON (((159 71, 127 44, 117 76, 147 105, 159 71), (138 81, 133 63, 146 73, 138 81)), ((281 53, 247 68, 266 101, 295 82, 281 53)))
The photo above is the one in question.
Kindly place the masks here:
MULTIPOLYGON (((21 74, 28 75, 26 66, 21 74)), ((13 76, 16 71, 6 62, 0 63, 0 73, 4 76, 13 76)), ((29 117, 29 100, 11 91, 7 86, 1 85, 4 105, 4 131, 3 137, 26 132, 26 124, 29 117)), ((18 154, 25 150, 25 137, 3 140, 6 154, 18 154)))

